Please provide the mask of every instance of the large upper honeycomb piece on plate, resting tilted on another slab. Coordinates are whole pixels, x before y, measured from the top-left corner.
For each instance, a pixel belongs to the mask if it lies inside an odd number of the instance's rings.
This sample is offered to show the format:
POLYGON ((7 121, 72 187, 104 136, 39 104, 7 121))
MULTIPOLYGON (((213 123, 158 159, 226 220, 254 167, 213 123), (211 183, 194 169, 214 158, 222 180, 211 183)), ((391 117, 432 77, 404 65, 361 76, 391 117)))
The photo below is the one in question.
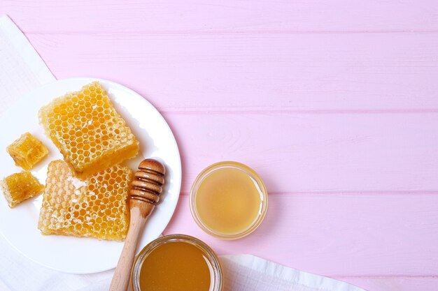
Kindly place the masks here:
POLYGON ((99 82, 41 107, 39 119, 79 177, 134 158, 139 142, 99 82))

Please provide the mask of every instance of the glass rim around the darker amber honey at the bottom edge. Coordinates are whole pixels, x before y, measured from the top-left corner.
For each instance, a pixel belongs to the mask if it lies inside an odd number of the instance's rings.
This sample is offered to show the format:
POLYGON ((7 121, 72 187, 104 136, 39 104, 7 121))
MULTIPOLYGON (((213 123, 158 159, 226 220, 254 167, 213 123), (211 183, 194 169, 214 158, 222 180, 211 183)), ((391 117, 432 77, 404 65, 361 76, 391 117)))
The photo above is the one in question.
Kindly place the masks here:
POLYGON ((223 272, 218 255, 216 255, 216 253, 210 248, 209 245, 204 243, 204 241, 187 234, 168 234, 163 237, 154 239, 140 251, 139 255, 136 255, 131 270, 132 291, 141 291, 140 271, 146 257, 158 246, 161 246, 162 244, 166 244, 171 241, 183 241, 188 244, 197 246, 197 248, 199 248, 204 253, 205 257, 209 260, 209 263, 211 264, 211 270, 213 271, 213 274, 211 274, 211 278, 213 279, 213 289, 211 289, 211 291, 222 291, 223 272))

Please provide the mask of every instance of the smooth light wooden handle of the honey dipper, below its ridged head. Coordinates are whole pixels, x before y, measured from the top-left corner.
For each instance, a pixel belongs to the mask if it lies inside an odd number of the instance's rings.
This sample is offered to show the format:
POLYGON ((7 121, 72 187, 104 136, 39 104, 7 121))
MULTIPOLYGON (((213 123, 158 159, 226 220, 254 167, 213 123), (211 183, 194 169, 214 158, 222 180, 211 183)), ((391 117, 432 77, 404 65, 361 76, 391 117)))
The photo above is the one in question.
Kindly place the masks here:
MULTIPOLYGON (((150 204, 151 205, 151 204, 150 204)), ((151 205, 152 206, 152 205, 151 205)), ((150 209, 150 212, 152 209, 150 209)), ((139 232, 143 229, 148 216, 141 213, 140 207, 131 208, 131 221, 129 221, 129 230, 125 239, 125 245, 122 249, 119 262, 114 271, 113 280, 111 281, 110 291, 126 291, 131 276, 131 268, 134 263, 134 256, 139 239, 139 232)))

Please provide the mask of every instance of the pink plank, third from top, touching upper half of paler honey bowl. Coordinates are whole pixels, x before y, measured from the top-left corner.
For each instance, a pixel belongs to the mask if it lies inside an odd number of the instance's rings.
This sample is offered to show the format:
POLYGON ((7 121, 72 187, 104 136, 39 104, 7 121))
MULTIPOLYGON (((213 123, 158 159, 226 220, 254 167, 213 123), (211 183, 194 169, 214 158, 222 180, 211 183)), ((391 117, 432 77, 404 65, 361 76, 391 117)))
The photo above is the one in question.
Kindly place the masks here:
POLYGON ((240 161, 271 193, 438 191, 438 114, 164 114, 183 192, 204 167, 240 161))

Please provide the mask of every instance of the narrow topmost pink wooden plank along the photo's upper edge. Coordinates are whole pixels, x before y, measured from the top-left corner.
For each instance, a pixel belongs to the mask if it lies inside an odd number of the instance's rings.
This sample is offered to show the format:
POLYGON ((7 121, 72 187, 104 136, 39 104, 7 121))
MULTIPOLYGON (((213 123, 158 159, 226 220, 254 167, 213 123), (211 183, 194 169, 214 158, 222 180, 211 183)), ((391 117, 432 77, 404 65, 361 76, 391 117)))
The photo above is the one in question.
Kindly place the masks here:
POLYGON ((25 32, 425 31, 438 6, 423 1, 3 0, 25 32), (69 21, 66 21, 69 20, 69 21))

